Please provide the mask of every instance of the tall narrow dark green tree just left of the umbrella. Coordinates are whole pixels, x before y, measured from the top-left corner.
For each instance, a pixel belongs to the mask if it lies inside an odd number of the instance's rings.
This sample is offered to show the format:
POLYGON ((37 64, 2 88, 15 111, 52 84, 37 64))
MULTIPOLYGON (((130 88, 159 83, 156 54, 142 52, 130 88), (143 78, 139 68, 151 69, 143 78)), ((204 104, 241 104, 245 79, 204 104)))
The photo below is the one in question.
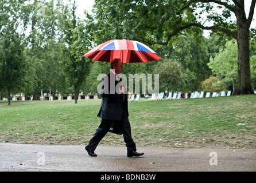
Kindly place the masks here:
POLYGON ((63 50, 65 58, 62 63, 68 81, 70 85, 73 86, 75 104, 77 104, 78 92, 90 71, 91 61, 90 59, 83 57, 84 49, 87 49, 87 47, 79 46, 80 42, 85 42, 87 35, 81 30, 82 26, 79 26, 79 22, 77 23, 75 3, 76 1, 73 2, 71 14, 66 14, 68 16, 68 21, 65 22, 65 30, 67 30, 65 32, 65 41, 67 42, 68 47, 65 47, 63 50))

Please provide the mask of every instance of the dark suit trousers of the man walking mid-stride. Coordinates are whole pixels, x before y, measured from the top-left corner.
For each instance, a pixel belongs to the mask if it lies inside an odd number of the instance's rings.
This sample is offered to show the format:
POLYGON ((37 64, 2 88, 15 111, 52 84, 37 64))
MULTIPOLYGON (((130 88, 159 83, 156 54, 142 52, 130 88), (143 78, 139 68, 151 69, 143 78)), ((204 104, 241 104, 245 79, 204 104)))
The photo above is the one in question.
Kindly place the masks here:
MULTIPOLYGON (((104 120, 102 119, 99 128, 96 130, 94 136, 89 141, 89 144, 87 145, 89 149, 94 151, 96 147, 98 146, 99 142, 102 140, 102 138, 107 134, 108 130, 111 127, 113 120, 104 120)), ((133 150, 136 151, 136 145, 133 141, 133 138, 131 138, 131 125, 128 120, 128 117, 126 113, 123 111, 121 120, 117 121, 119 124, 119 128, 121 132, 123 133, 123 139, 126 143, 127 152, 132 152, 133 150)))

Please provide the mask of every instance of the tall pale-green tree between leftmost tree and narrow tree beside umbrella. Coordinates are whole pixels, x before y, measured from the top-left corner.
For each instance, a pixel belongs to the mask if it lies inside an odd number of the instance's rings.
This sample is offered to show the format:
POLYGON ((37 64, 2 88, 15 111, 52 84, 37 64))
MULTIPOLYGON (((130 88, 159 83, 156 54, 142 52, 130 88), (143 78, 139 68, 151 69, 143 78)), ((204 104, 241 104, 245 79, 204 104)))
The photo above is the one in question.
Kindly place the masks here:
POLYGON ((33 83, 33 100, 38 100, 38 91, 53 90, 53 100, 60 85, 60 50, 65 42, 64 16, 69 13, 62 1, 29 1, 24 7, 24 32, 28 44, 26 55, 32 62, 36 82, 33 83))

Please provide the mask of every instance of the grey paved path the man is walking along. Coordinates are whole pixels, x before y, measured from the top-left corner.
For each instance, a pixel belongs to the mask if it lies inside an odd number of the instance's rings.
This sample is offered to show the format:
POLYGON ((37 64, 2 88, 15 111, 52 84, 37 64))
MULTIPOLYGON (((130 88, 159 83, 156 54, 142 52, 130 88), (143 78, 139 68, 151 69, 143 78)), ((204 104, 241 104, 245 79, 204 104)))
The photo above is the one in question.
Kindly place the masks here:
POLYGON ((0 171, 256 171, 256 149, 138 147, 128 158, 125 146, 98 146, 90 157, 83 145, 0 144, 0 171), (211 153, 211 154, 210 154, 211 153))

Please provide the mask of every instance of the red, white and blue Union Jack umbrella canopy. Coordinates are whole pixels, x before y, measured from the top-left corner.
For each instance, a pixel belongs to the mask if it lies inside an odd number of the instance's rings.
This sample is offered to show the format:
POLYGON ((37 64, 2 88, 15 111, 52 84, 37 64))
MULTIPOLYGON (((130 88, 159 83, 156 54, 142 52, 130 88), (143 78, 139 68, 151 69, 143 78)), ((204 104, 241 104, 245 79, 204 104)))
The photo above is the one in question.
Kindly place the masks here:
POLYGON ((111 62, 114 58, 120 58, 123 63, 149 62, 162 59, 150 47, 141 42, 127 39, 113 39, 104 42, 88 51, 84 57, 103 62, 111 62))

